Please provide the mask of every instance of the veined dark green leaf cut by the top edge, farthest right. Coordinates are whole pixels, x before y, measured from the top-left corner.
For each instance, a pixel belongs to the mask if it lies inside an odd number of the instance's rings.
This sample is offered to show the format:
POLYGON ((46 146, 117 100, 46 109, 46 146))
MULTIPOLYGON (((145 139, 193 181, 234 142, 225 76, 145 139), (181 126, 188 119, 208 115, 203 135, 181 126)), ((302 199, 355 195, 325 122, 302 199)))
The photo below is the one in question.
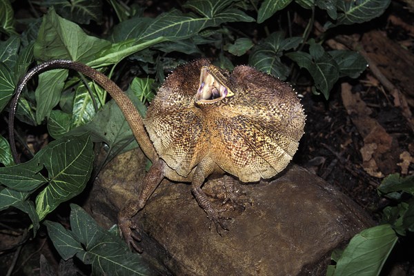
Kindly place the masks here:
POLYGON ((370 21, 383 14, 390 3, 391 0, 337 0, 337 21, 326 23, 325 28, 370 21))

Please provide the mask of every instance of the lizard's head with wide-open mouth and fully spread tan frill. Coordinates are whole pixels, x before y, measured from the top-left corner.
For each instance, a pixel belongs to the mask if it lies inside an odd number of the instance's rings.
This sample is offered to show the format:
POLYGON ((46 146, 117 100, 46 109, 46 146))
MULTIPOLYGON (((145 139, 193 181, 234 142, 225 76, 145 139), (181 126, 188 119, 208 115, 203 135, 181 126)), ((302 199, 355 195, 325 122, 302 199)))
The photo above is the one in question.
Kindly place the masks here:
POLYGON ((304 133, 293 88, 249 66, 233 72, 199 59, 159 88, 144 124, 161 159, 186 177, 208 158, 242 181, 283 170, 304 133))

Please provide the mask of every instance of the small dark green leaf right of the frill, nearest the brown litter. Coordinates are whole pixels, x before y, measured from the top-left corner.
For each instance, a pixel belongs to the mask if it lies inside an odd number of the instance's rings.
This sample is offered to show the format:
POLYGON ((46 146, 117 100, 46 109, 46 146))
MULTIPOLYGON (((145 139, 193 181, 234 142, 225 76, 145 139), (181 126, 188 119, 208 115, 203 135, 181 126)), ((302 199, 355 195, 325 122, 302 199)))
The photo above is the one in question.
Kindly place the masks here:
POLYGON ((368 63, 358 52, 348 50, 333 50, 328 52, 339 66, 339 77, 359 77, 368 66, 368 63))

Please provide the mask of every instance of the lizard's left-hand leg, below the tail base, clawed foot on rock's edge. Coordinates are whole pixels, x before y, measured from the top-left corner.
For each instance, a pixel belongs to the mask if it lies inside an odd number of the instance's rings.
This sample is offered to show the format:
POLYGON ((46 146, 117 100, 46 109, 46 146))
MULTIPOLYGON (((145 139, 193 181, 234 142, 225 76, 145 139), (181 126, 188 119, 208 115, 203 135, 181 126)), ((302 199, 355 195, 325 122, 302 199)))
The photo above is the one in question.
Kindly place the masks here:
POLYGON ((150 195, 154 193, 155 188, 161 183, 161 180, 164 178, 164 166, 166 166, 166 164, 161 159, 152 164, 147 175, 144 177, 138 200, 131 200, 118 213, 118 224, 121 234, 124 236, 128 246, 132 246, 139 253, 141 253, 142 250, 137 246, 137 242, 141 240, 141 237, 139 236, 139 233, 137 233, 139 232, 138 227, 135 224, 132 224, 131 219, 137 215, 139 210, 144 208, 150 195))

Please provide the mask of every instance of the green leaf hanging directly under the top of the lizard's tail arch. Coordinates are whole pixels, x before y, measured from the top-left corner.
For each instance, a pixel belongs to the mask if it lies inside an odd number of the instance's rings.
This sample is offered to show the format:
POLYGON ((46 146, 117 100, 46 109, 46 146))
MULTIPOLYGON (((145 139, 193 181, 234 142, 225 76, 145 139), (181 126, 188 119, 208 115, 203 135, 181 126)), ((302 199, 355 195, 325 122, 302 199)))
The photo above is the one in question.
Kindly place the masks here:
POLYGON ((39 75, 39 85, 34 92, 37 124, 41 124, 44 117, 49 117, 52 108, 59 103, 66 78, 68 70, 65 69, 50 70, 39 75))

